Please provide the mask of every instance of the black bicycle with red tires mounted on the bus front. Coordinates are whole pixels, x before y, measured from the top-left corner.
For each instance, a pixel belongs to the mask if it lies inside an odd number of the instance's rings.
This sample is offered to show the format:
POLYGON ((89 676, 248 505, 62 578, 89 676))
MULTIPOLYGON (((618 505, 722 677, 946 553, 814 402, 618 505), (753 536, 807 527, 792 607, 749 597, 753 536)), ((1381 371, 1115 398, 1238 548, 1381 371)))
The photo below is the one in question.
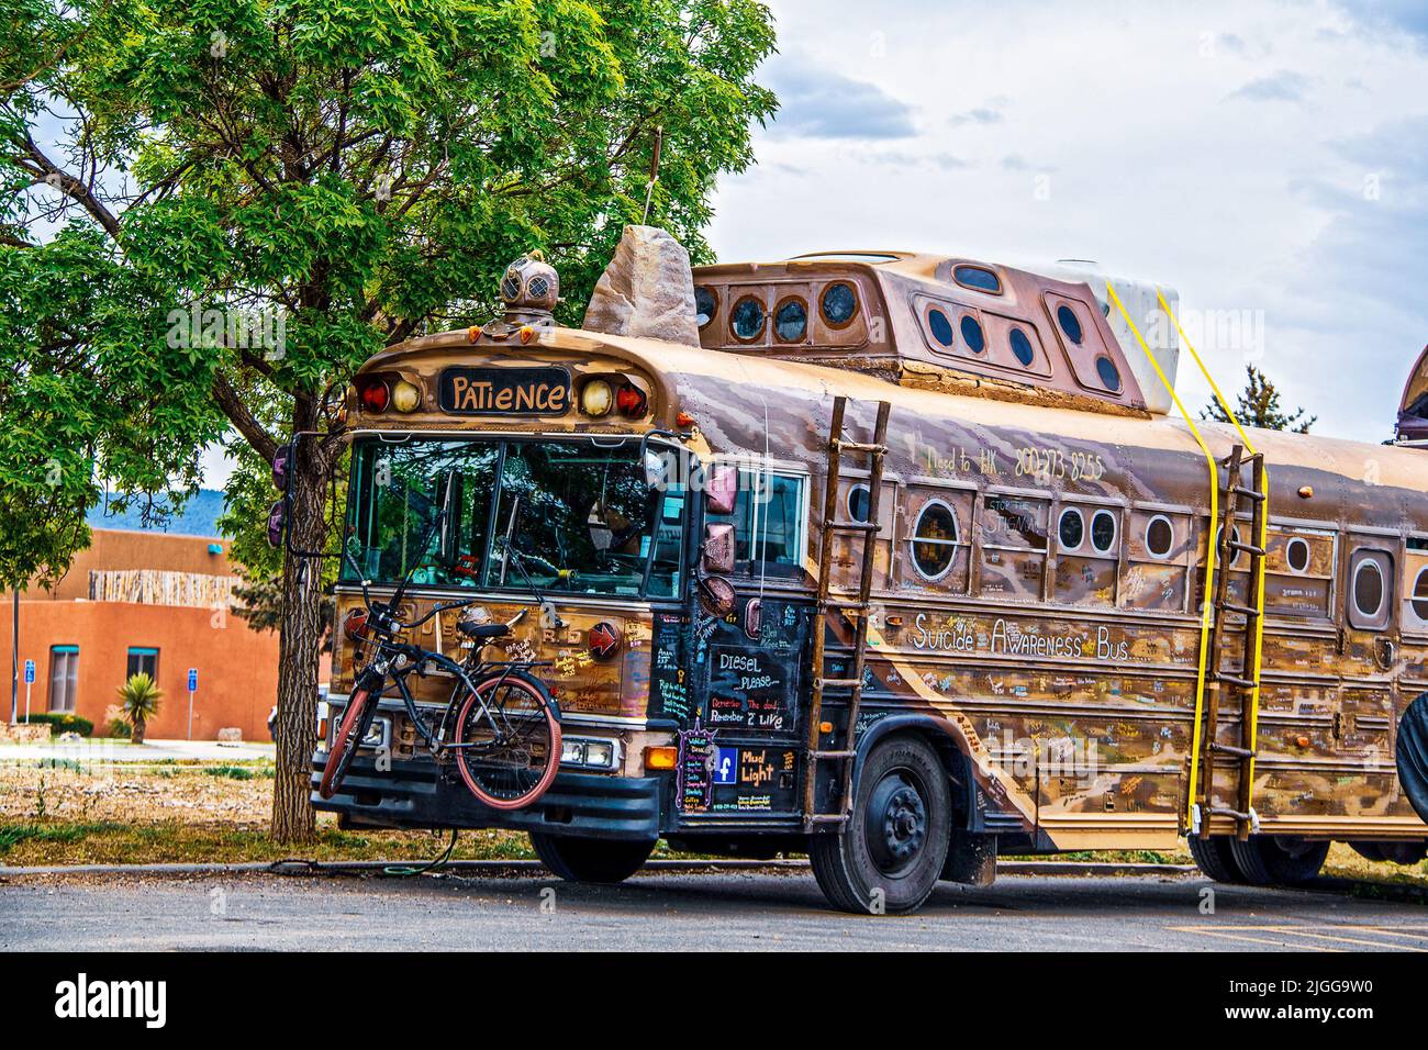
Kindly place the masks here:
POLYGON ((390 601, 374 603, 356 560, 346 550, 343 557, 360 581, 367 607, 366 614, 360 610, 348 613, 343 630, 354 644, 371 646, 373 650, 353 683, 318 794, 331 799, 341 786, 391 679, 407 717, 438 766, 456 764, 471 794, 490 809, 531 806, 550 787, 560 767, 560 707, 545 684, 531 674, 533 669, 548 667, 550 661, 483 659, 486 647, 508 636, 530 610, 521 610, 507 623, 458 620, 457 630, 473 646, 466 660, 458 663, 397 637, 414 631, 438 613, 477 604, 480 599, 438 603, 420 620, 403 623, 396 610, 407 580, 401 581, 390 601), (446 709, 428 726, 433 713, 417 707, 407 679, 413 673, 426 677, 433 669, 451 674, 456 681, 446 709))

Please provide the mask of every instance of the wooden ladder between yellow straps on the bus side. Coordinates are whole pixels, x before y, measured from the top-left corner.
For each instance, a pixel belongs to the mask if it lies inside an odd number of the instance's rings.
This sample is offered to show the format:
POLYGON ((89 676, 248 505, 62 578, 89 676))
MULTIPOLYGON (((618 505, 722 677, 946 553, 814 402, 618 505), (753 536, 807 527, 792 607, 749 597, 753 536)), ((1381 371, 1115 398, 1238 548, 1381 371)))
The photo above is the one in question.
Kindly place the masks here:
POLYGON ((1254 787, 1252 764, 1255 757, 1254 726, 1257 706, 1259 703, 1259 671, 1255 666, 1257 637, 1259 623, 1264 619, 1264 557, 1265 550, 1259 546, 1265 534, 1265 514, 1268 513, 1268 491, 1265 489, 1264 454, 1244 454, 1244 446, 1235 446, 1230 456, 1221 463, 1228 469, 1225 474, 1224 514, 1220 521, 1220 533, 1215 540, 1220 557, 1220 571, 1214 581, 1215 619, 1210 627, 1210 656, 1208 681, 1205 689, 1205 726, 1201 737, 1200 753, 1200 796, 1197 810, 1200 813, 1200 834, 1210 834, 1211 817, 1234 817, 1235 836, 1247 839, 1258 824, 1258 819, 1251 803, 1254 787), (1251 483, 1244 484, 1244 473, 1250 470, 1251 483), (1248 510, 1241 506, 1248 500, 1248 510), (1250 526, 1250 539, 1237 539, 1237 524, 1250 526), (1231 554, 1232 553, 1232 554, 1231 554), (1250 577, 1245 604, 1231 601, 1230 597, 1230 557, 1238 554, 1250 556, 1250 577), (1230 630, 1225 617, 1237 613, 1244 617, 1244 661, 1238 670, 1227 671, 1224 663, 1225 634, 1230 630), (1224 689, 1240 691, 1240 741, 1237 744, 1222 744, 1217 739, 1220 727, 1220 701, 1224 689), (1240 766, 1238 796, 1234 806, 1215 806, 1215 756, 1224 754, 1240 766))

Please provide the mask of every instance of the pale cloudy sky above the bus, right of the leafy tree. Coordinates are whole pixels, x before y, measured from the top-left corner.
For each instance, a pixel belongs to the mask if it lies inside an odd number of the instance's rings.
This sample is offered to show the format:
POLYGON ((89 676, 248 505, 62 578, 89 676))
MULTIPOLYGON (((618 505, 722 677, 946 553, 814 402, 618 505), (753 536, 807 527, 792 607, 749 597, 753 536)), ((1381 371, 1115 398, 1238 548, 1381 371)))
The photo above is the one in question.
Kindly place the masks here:
POLYGON ((1095 260, 1180 293, 1227 393, 1252 363, 1314 433, 1391 436, 1428 344, 1428 0, 771 7, 781 110, 721 180, 723 261, 1095 260))

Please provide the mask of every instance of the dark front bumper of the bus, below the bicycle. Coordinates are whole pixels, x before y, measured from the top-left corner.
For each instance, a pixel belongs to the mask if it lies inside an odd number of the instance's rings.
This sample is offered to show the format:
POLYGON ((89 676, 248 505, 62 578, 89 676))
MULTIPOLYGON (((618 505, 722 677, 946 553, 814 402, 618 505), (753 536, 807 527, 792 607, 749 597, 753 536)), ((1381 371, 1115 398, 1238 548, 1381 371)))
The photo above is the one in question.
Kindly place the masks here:
POLYGON ((618 777, 557 773, 540 800, 524 810, 498 811, 478 803, 466 786, 441 777, 431 759, 394 761, 380 771, 358 754, 331 799, 317 793, 326 753, 318 753, 311 779, 313 807, 338 813, 366 827, 500 827, 548 831, 588 839, 653 840, 660 836, 661 781, 657 777, 618 777))

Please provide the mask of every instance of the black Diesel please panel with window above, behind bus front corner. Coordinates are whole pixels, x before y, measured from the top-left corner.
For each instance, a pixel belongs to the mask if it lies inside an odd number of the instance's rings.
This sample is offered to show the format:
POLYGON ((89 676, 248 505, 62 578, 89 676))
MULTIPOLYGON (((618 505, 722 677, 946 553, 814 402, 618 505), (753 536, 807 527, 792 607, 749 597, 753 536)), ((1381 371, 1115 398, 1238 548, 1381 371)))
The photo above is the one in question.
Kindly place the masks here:
POLYGON ((724 613, 698 597, 690 604, 693 703, 680 731, 675 800, 690 823, 797 817, 798 696, 813 614, 803 570, 807 494, 805 476, 740 467, 733 509, 704 507, 700 534, 728 544, 713 570, 734 603, 724 613))

